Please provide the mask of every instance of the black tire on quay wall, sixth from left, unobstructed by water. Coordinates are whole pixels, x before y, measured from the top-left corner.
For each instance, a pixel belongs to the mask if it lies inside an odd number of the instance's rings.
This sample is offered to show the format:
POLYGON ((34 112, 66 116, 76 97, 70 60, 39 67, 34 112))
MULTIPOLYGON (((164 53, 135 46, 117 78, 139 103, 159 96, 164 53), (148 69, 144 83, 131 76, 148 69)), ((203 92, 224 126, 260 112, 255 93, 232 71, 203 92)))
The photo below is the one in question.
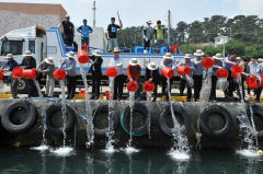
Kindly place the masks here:
POLYGON ((226 108, 218 105, 210 105, 205 107, 201 113, 199 124, 203 132, 210 138, 226 138, 226 136, 233 128, 231 114, 226 108), (214 130, 209 126, 209 117, 213 114, 220 115, 225 120, 225 126, 220 130, 214 130))

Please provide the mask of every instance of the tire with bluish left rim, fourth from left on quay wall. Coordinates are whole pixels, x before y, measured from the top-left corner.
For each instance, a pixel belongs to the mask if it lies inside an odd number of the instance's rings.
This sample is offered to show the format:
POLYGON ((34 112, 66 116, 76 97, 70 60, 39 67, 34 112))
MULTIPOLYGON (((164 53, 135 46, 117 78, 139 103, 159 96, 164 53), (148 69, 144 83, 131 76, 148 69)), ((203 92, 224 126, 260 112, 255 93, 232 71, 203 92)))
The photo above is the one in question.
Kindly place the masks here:
MULTIPOLYGON (((128 135, 132 134, 132 136, 136 136, 136 137, 144 136, 148 131, 148 108, 144 104, 135 103, 133 113, 139 113, 140 115, 145 116, 146 117, 145 124, 141 127, 133 128, 133 130, 130 132, 130 130, 129 130, 130 129, 130 127, 129 127, 130 107, 127 106, 127 107, 125 107, 125 109, 121 116, 122 128, 128 135)), ((133 120, 135 118, 133 118, 133 120)))

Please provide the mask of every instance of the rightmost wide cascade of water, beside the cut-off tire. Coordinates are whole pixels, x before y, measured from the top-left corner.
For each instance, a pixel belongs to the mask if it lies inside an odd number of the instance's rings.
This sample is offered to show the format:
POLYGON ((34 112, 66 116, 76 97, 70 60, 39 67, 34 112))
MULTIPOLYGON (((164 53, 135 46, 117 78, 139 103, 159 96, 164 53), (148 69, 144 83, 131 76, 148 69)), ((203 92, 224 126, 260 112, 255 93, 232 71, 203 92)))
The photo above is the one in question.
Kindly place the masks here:
MULTIPOLYGON (((237 118, 240 123, 239 129, 241 132, 243 132, 243 135, 242 135, 243 141, 248 143, 248 149, 244 149, 244 150, 258 151, 258 147, 254 146, 254 141, 256 140, 256 131, 249 121, 249 117, 248 117, 247 109, 245 109, 245 103, 243 100, 241 78, 238 79, 238 84, 239 84, 239 90, 240 90, 242 109, 241 109, 240 114, 237 116, 237 118)), ((251 118, 253 120, 252 115, 251 115, 251 118)), ((256 140, 256 142, 258 142, 258 140, 256 140)), ((244 153, 242 153, 242 154, 244 154, 244 153)))

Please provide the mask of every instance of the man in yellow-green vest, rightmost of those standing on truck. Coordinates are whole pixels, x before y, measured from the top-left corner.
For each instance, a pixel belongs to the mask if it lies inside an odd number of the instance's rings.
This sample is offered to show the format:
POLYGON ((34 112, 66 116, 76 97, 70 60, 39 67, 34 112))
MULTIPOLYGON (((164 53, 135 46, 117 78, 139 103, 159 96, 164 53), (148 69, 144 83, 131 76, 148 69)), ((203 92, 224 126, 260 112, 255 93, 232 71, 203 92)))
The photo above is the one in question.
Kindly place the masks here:
POLYGON ((153 39, 158 48, 168 47, 165 38, 165 28, 161 25, 161 21, 157 21, 157 26, 153 30, 153 39))

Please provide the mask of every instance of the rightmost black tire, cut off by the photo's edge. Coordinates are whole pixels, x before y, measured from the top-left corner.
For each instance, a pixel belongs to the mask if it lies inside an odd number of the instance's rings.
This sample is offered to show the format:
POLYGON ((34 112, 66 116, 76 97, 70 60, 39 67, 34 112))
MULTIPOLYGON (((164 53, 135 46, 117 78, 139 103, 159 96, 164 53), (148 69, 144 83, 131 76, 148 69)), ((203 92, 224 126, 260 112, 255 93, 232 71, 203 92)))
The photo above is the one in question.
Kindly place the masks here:
MULTIPOLYGON (((260 105, 252 105, 252 111, 253 111, 253 118, 254 118, 254 124, 255 124, 255 129, 258 131, 258 138, 262 139, 263 138, 263 107, 260 105), (255 120, 255 116, 261 119, 261 123, 259 120, 255 120), (259 130, 259 128, 261 128, 259 130)), ((251 113, 249 112, 248 114, 251 116, 251 113)))

